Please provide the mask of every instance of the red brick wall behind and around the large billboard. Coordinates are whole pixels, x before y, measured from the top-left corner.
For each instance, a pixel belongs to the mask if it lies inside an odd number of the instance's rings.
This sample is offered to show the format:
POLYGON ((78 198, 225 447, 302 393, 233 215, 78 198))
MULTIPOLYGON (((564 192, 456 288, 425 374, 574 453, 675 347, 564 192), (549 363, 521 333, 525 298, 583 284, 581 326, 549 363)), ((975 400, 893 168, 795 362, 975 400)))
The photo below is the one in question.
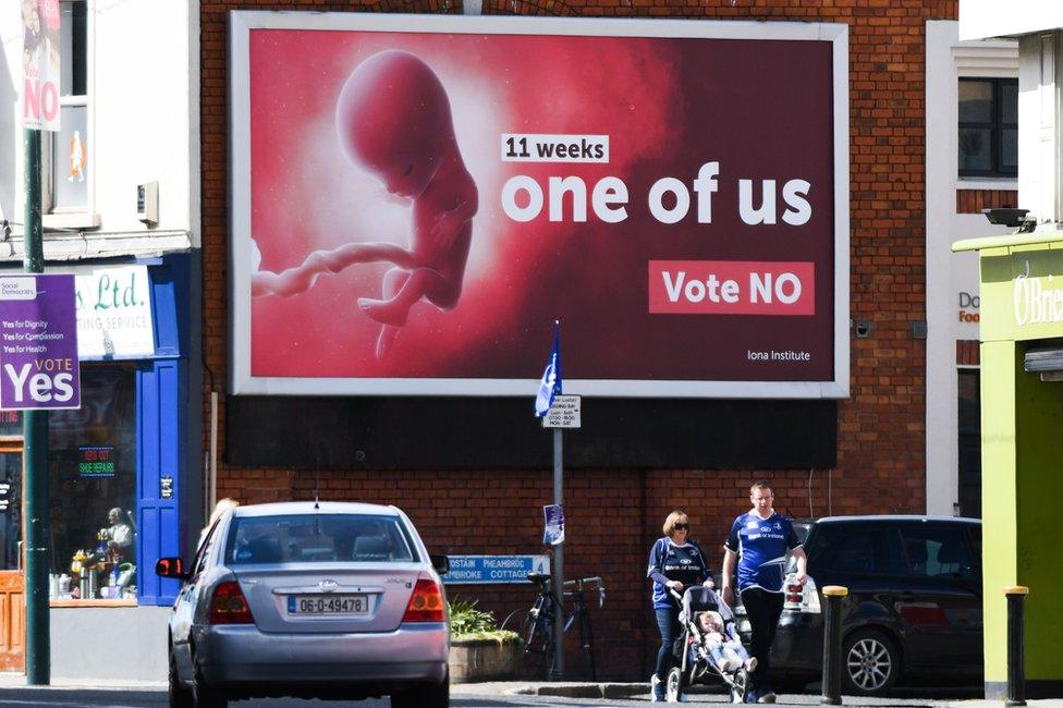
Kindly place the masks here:
MULTIPOLYGON (((457 0, 418 2, 237 2, 203 0, 203 242, 205 395, 224 392, 228 362, 227 12, 255 10, 461 12, 457 0)), ((569 469, 566 575, 600 574, 606 608, 595 612, 601 673, 645 679, 659 643, 644 564, 660 524, 686 510, 716 567, 731 520, 746 508, 754 476, 771 477, 777 508, 795 515, 925 510, 924 27, 956 17, 955 0, 486 0, 485 14, 619 15, 799 20, 850 25, 851 298, 853 318, 873 322, 852 339, 852 399, 839 408, 838 468, 798 471, 569 469), (821 7, 820 7, 821 5, 821 7), (830 493, 828 495, 828 490, 830 493)), ((223 396, 222 396, 223 400, 223 396)), ((206 405, 206 403, 205 403, 206 405)), ((205 415, 205 419, 209 416, 205 415)), ((224 406, 220 434, 224 431, 224 406)), ((206 440, 204 442, 206 449, 206 440)), ((543 444, 549 439, 543 437, 543 444)), ((315 473, 219 465, 219 496, 246 502, 313 496, 315 473)), ((548 471, 320 472, 321 497, 396 503, 432 550, 537 552, 548 471)), ((452 590, 453 593, 454 590, 452 590)), ((504 615, 527 588, 457 589, 504 615)), ((582 661, 570 648, 578 673, 582 661)))

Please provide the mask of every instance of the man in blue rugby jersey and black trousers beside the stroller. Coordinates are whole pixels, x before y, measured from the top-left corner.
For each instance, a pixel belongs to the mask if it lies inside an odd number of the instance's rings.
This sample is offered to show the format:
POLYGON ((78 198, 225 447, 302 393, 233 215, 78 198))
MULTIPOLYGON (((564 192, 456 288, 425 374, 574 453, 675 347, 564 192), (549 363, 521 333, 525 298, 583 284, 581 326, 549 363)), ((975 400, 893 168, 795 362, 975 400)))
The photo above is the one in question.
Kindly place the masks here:
POLYGON ((747 700, 775 703, 771 689, 771 643, 782 614, 784 599, 783 570, 786 551, 797 559, 794 582, 805 583, 805 551, 797 540, 793 524, 772 508, 774 492, 763 479, 753 483, 749 501, 753 509, 734 520, 724 546, 723 600, 734 605, 732 577, 737 564, 738 593, 745 606, 749 628, 753 633, 750 654, 757 659, 757 668, 749 676, 747 700))

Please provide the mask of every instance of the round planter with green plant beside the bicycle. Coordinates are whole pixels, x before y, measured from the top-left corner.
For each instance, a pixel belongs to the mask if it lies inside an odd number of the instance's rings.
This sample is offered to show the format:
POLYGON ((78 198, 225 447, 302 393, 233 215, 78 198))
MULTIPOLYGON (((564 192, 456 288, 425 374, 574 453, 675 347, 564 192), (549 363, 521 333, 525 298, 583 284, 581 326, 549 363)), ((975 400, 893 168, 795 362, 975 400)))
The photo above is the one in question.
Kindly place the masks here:
POLYGON ((450 680, 452 683, 509 681, 516 678, 524 643, 516 632, 499 630, 494 615, 476 600, 450 603, 450 680))

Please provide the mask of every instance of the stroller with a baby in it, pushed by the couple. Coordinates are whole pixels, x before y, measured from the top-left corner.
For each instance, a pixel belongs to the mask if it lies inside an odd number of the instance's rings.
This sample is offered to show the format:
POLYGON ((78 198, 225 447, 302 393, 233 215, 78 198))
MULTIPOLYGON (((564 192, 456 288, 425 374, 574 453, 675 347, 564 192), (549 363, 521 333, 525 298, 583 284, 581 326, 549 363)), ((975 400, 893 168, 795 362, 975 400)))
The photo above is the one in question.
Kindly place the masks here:
POLYGON ((738 640, 734 614, 718 593, 692 587, 680 598, 683 634, 676 642, 679 666, 668 675, 665 700, 682 700, 693 684, 721 682, 732 703, 745 703, 749 672, 756 659, 749 658, 738 640))

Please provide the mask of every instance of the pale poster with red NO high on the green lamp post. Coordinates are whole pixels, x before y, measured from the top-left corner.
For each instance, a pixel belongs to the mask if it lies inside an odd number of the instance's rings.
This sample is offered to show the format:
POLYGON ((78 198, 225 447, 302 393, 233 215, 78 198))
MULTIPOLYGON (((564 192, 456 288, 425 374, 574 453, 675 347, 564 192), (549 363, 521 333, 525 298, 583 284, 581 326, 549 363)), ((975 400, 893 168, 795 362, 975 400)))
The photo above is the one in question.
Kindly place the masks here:
POLYGON ((22 125, 59 131, 59 0, 22 2, 22 125))

